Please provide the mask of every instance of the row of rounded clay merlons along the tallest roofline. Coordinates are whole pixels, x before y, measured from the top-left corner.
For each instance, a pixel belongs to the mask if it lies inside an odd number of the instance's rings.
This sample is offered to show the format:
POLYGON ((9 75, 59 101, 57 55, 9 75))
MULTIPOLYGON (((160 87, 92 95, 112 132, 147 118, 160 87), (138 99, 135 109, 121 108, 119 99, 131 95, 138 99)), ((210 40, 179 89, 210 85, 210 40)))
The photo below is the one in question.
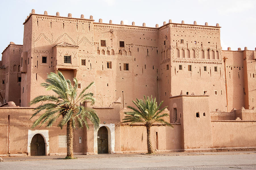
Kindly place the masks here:
MULTIPOLYGON (((56 12, 56 15, 53 16, 53 15, 48 15, 48 12, 47 12, 47 11, 45 11, 44 14, 36 14, 36 13, 35 13, 35 10, 32 9, 32 13, 30 13, 30 15, 27 16, 27 18, 26 18, 25 22, 23 23, 23 25, 26 24, 26 22, 29 20, 29 18, 30 18, 32 15, 47 16, 47 17, 54 17, 54 18, 55 18, 55 17, 58 17, 58 18, 66 18, 66 19, 76 19, 76 20, 89 20, 89 21, 94 21, 93 16, 90 16, 90 19, 85 19, 83 14, 81 15, 81 18, 72 18, 72 14, 71 14, 71 13, 69 13, 67 17, 64 17, 64 16, 59 16, 59 12, 56 12)), ((216 24, 216 26, 210 26, 210 25, 208 25, 207 22, 205 22, 205 25, 197 25, 197 22, 196 22, 196 21, 194 21, 193 24, 185 24, 184 21, 181 21, 181 23, 173 23, 172 20, 169 20, 168 23, 164 22, 164 24, 163 24, 162 26, 160 26, 160 27, 158 27, 158 24, 156 24, 156 27, 146 27, 146 24, 145 24, 145 23, 143 23, 142 26, 138 26, 138 25, 135 25, 135 22, 132 22, 132 25, 124 25, 122 21, 121 21, 120 24, 112 24, 112 20, 110 20, 109 23, 103 23, 103 22, 102 22, 102 19, 99 19, 99 22, 93 22, 93 23, 97 23, 97 24, 110 24, 110 25, 123 25, 123 26, 131 26, 131 27, 145 27, 145 28, 155 28, 155 29, 160 29, 160 28, 162 28, 162 27, 164 27, 164 26, 166 26, 166 25, 168 25, 168 24, 171 24, 171 25, 174 25, 174 26, 177 26, 177 25, 179 25, 179 26, 181 26, 181 25, 191 26, 190 28, 193 28, 193 29, 197 29, 197 28, 198 28, 198 29, 201 29, 201 27, 212 27, 213 29, 221 28, 218 23, 216 24), (199 27, 200 27, 200 28, 199 28, 199 27)), ((183 26, 181 26, 181 27, 183 27, 183 26)))

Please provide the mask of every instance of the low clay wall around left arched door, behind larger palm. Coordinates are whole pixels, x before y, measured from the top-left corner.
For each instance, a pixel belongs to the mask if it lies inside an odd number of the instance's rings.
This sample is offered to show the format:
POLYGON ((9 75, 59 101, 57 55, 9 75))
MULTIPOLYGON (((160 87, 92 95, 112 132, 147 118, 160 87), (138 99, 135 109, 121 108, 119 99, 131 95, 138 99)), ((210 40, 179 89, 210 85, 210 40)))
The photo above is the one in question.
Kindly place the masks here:
MULTIPOLYGON (((32 113, 33 108, 0 108, 0 154, 28 154, 28 130, 36 119, 35 117, 29 120, 32 113)), ((66 135, 66 128, 63 127, 61 130, 56 123, 49 129, 44 126, 31 130, 47 129, 49 131, 49 153, 67 152, 66 148, 58 147, 58 136, 66 135)), ((74 152, 84 153, 83 143, 86 140, 82 139, 82 143, 79 143, 79 137, 84 136, 83 129, 76 128, 73 134, 74 152)))

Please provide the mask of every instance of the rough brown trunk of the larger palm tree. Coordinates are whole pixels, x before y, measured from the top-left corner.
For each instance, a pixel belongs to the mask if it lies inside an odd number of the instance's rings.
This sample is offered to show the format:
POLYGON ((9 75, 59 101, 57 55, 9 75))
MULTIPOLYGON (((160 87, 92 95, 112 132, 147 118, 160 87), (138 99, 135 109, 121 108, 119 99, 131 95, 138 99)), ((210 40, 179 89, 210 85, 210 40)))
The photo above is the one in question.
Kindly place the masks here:
POLYGON ((67 156, 74 158, 72 119, 67 122, 67 156))

